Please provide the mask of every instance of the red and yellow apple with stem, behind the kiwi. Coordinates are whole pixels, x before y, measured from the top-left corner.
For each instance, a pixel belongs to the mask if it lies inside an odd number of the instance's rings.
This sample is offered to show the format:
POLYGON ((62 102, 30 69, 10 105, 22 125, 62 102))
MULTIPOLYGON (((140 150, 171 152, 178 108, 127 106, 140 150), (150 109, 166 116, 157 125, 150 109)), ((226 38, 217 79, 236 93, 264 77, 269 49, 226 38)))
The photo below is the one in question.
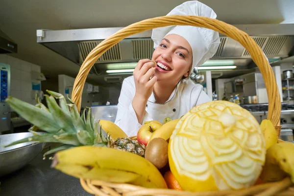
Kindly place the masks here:
POLYGON ((161 126, 161 123, 156 122, 145 123, 137 133, 138 142, 147 146, 153 132, 161 126))

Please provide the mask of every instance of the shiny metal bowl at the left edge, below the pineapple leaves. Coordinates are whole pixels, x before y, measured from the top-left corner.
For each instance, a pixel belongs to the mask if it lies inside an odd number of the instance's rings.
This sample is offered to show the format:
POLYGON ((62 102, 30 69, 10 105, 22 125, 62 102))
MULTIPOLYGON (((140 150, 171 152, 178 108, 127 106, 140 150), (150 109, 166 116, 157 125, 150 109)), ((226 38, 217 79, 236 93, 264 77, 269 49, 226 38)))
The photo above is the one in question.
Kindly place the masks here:
POLYGON ((43 144, 37 142, 26 142, 11 147, 4 147, 11 142, 32 135, 33 134, 29 132, 0 135, 0 176, 25 167, 42 151, 43 144))

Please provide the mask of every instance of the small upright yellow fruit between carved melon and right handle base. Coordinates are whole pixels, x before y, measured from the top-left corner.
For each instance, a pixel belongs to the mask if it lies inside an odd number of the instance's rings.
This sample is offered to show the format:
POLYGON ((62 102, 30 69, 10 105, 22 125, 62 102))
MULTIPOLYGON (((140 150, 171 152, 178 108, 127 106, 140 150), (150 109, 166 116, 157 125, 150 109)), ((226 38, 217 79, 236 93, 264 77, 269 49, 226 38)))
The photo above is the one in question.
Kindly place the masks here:
POLYGON ((260 124, 260 128, 265 136, 267 149, 269 149, 272 145, 278 143, 277 134, 270 120, 263 120, 260 124))

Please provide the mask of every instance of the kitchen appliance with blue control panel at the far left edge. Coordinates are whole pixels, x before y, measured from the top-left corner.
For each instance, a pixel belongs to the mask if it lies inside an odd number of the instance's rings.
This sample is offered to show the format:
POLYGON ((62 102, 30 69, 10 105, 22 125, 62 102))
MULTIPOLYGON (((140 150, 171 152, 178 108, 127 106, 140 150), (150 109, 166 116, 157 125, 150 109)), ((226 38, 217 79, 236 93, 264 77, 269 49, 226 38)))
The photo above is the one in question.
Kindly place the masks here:
POLYGON ((10 65, 0 63, 0 133, 11 129, 10 107, 5 99, 10 95, 10 65))

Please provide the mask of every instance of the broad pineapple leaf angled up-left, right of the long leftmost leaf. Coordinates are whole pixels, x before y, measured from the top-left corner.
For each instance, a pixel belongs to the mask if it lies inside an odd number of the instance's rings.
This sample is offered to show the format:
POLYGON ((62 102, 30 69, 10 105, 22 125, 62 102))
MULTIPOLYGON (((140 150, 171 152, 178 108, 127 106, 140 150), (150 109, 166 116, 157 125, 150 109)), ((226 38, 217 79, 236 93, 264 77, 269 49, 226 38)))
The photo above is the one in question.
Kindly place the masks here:
POLYGON ((66 132, 75 132, 72 118, 65 113, 57 104, 55 98, 52 96, 46 96, 47 105, 50 113, 52 114, 55 122, 66 132))

